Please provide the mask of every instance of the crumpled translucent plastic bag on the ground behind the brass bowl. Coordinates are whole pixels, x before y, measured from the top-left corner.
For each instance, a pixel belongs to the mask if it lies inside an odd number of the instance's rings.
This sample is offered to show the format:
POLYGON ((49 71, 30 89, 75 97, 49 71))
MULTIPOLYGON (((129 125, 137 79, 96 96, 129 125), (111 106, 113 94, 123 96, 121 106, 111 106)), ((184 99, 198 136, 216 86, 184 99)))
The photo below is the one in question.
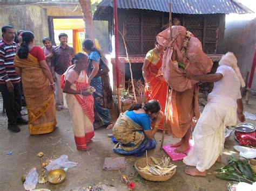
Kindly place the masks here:
POLYGON ((72 168, 77 166, 76 162, 70 162, 68 159, 68 156, 63 154, 60 156, 60 158, 53 160, 49 163, 49 165, 47 165, 45 168, 47 171, 51 171, 53 169, 57 169, 57 168, 72 168))

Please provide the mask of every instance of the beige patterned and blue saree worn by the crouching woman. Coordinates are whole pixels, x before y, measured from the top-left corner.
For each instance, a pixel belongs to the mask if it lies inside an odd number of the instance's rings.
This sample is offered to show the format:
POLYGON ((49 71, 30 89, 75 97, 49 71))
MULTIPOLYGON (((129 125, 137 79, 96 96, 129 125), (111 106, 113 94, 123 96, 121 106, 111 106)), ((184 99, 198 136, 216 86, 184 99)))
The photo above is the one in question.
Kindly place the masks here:
POLYGON ((148 139, 142 126, 133 122, 125 113, 121 113, 112 130, 114 138, 118 141, 113 152, 123 155, 140 157, 146 150, 155 148, 155 139, 148 139))

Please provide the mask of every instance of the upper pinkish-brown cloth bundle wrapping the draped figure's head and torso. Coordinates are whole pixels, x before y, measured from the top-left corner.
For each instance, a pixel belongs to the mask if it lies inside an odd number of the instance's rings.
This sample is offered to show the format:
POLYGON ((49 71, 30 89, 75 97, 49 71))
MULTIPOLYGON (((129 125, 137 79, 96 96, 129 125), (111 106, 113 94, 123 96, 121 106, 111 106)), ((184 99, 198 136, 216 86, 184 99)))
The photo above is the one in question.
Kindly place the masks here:
POLYGON ((187 79, 183 71, 173 64, 173 60, 183 63, 185 71, 195 75, 211 72, 212 60, 203 52, 198 38, 188 32, 184 26, 172 26, 172 42, 170 42, 170 28, 158 34, 157 42, 166 47, 173 47, 165 51, 162 65, 164 78, 172 89, 183 92, 191 89, 198 82, 187 79))

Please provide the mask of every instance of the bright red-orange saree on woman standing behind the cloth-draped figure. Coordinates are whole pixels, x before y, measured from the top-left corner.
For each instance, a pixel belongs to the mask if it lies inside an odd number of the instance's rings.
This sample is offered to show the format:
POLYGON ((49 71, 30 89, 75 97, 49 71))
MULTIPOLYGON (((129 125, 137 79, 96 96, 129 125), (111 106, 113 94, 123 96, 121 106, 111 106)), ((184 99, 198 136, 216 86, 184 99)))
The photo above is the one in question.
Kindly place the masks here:
MULTIPOLYGON (((162 56, 160 56, 155 65, 153 63, 149 64, 149 67, 147 68, 147 78, 150 82, 151 89, 148 89, 148 87, 145 86, 145 96, 147 101, 157 100, 161 105, 161 111, 165 113, 166 94, 168 87, 166 81, 161 76, 161 65, 162 56)), ((163 125, 164 118, 160 122, 158 129, 162 130, 163 125)))

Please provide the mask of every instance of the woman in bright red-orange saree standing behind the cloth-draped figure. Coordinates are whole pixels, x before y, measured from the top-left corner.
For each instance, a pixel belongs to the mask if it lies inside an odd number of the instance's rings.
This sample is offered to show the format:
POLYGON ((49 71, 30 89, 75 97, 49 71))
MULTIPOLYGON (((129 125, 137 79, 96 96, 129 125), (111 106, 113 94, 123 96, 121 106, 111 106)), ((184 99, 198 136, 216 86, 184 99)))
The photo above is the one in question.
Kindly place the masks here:
MULTIPOLYGON (((147 101, 157 100, 161 105, 161 111, 165 111, 167 94, 167 83, 161 73, 163 62, 164 46, 156 42, 156 47, 146 54, 142 67, 142 74, 145 80, 145 96, 147 101)), ((164 112, 165 113, 165 112, 164 112)), ((160 122, 158 129, 163 130, 164 118, 160 122)))

